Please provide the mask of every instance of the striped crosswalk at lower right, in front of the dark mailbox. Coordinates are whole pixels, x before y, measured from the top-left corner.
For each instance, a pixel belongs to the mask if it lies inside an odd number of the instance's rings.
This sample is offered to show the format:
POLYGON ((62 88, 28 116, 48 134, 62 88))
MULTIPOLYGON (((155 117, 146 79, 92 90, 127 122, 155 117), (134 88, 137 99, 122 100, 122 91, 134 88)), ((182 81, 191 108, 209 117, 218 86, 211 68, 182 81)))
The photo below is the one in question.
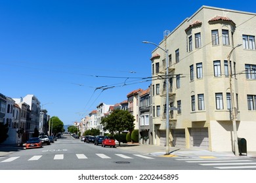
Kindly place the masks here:
POLYGON ((177 161, 186 161, 186 163, 197 163, 202 166, 211 166, 215 169, 256 169, 256 162, 253 159, 239 159, 239 158, 219 158, 219 159, 186 159, 177 158, 177 161))

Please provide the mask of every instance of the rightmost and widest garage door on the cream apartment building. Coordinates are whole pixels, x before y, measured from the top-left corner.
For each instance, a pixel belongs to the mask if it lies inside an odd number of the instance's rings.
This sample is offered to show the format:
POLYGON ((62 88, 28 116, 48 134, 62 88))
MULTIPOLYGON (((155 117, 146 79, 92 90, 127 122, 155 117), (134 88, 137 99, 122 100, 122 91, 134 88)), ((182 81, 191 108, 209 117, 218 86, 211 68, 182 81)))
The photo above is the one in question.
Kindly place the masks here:
POLYGON ((208 128, 191 128, 190 129, 190 145, 192 148, 209 149, 208 128))

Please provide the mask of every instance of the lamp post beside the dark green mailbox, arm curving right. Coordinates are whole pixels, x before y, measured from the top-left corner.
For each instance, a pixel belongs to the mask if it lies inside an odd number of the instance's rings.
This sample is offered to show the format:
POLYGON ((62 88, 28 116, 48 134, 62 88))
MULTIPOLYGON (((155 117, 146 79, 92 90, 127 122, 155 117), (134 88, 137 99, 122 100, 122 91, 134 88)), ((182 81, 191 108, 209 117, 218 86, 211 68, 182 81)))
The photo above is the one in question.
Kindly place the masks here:
POLYGON ((234 51, 234 49, 236 49, 238 46, 241 46, 242 44, 238 44, 237 46, 235 46, 234 48, 232 48, 232 50, 230 51, 230 53, 228 54, 228 76, 229 76, 229 87, 230 87, 230 97, 231 97, 231 120, 232 120, 232 124, 233 124, 233 133, 234 133, 234 154, 236 156, 239 155, 238 152, 238 134, 236 131, 236 111, 235 111, 235 107, 234 107, 234 96, 233 96, 233 92, 232 92, 232 69, 231 69, 231 61, 230 61, 230 57, 232 55, 232 52, 234 51))

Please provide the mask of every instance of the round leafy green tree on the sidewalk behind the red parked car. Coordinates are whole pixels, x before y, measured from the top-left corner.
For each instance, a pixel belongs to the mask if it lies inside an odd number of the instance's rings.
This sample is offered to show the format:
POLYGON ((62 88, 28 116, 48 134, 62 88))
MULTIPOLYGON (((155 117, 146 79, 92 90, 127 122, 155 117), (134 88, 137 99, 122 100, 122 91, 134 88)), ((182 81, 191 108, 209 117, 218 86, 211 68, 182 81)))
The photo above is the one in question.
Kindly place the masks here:
POLYGON ((134 116, 127 110, 116 109, 109 116, 103 118, 100 124, 103 125, 104 130, 110 131, 112 135, 114 135, 116 131, 118 131, 118 135, 120 135, 121 131, 132 131, 134 129, 134 121, 134 116))

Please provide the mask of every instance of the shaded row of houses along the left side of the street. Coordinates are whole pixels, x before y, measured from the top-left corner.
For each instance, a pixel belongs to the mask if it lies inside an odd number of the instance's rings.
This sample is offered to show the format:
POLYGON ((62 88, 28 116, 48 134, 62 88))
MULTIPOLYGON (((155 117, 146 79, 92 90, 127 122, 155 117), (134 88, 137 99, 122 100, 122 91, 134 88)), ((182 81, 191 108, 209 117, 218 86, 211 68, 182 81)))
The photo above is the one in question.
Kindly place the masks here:
POLYGON ((0 123, 8 124, 8 138, 3 144, 20 144, 38 133, 48 132, 47 110, 35 95, 11 98, 0 93, 0 123))

